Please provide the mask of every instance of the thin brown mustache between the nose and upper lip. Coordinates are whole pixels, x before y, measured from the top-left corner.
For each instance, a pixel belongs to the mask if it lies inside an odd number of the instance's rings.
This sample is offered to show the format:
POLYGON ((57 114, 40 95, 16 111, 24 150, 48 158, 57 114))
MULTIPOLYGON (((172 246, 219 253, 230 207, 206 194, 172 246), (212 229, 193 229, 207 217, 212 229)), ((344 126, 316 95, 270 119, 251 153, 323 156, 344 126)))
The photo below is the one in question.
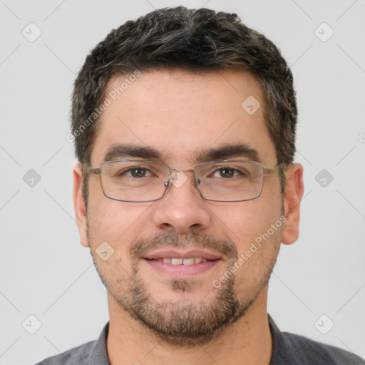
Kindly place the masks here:
POLYGON ((194 247, 198 249, 210 249, 220 252, 222 255, 235 259, 238 257, 237 248, 231 240, 219 240, 203 232, 187 232, 180 235, 177 232, 163 232, 149 238, 140 238, 130 247, 130 258, 138 259, 147 255, 152 250, 166 246, 194 247))

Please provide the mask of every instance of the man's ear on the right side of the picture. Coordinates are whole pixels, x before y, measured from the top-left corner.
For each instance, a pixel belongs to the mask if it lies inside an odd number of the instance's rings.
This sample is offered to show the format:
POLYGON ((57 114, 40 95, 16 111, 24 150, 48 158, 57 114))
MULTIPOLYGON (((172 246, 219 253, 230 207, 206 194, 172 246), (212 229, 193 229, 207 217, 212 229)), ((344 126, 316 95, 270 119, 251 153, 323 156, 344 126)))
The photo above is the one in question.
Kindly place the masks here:
POLYGON ((284 215, 287 218, 282 243, 291 245, 299 237, 300 202, 304 193, 303 166, 294 163, 287 168, 287 186, 284 195, 284 215))

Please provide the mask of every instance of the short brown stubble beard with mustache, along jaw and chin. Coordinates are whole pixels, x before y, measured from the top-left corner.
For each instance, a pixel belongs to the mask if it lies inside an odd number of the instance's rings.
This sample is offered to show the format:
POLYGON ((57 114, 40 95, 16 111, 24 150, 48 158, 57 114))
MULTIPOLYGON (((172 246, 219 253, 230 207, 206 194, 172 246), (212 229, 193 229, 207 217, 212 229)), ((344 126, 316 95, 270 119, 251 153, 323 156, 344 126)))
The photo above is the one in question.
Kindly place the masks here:
MULTIPOLYGON (((200 233, 188 234, 185 239, 184 242, 190 242, 190 244, 195 242, 194 247, 219 247, 219 252, 229 253, 231 262, 237 259, 237 250, 232 242, 222 242, 200 233)), ((140 245, 135 245, 134 256, 143 251, 143 247, 155 248, 163 245, 184 247, 187 244, 182 243, 177 234, 166 232, 153 239, 144 240, 140 245)), ((93 250, 91 254, 96 264, 93 250)), ((275 261, 276 257, 269 266, 263 268, 264 272, 254 291, 247 291, 237 297, 236 276, 232 275, 227 277, 219 288, 212 286, 214 295, 206 294, 209 298, 205 300, 205 297, 202 297, 197 303, 184 303, 181 300, 157 302, 143 284, 143 278, 138 277, 137 261, 133 260, 133 252, 131 252, 133 273, 128 277, 126 292, 120 292, 120 287, 110 282, 110 279, 98 269, 97 264, 96 269, 103 284, 120 308, 143 324, 154 336, 170 346, 193 347, 202 346, 219 338, 225 333, 227 327, 245 315, 262 289, 267 286, 275 261)), ((227 262, 227 269, 229 267, 230 264, 227 262)), ((198 291, 201 283, 196 279, 183 279, 170 280, 169 284, 173 291, 184 293, 198 291)))

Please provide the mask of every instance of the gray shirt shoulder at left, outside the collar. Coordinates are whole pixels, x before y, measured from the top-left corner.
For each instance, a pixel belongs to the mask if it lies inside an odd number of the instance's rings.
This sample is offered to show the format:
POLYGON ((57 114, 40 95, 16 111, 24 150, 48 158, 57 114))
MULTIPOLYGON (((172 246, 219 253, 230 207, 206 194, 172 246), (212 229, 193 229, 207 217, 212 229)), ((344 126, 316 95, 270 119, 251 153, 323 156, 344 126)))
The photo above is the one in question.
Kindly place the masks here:
POLYGON ((96 343, 96 341, 90 341, 81 346, 73 347, 62 354, 56 356, 48 357, 36 365, 86 365, 88 364, 88 356, 90 354, 91 348, 96 343))

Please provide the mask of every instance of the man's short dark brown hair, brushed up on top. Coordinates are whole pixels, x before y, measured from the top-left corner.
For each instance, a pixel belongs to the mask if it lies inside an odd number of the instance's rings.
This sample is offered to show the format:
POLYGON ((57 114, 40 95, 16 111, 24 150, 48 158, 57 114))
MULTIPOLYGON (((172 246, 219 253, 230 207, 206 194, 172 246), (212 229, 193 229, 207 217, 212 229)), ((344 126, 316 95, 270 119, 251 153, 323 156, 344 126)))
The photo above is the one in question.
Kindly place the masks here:
POLYGON ((192 72, 239 68, 250 72, 262 87, 264 115, 278 163, 292 163, 297 103, 292 72, 278 48, 242 24, 237 14, 183 6, 127 21, 110 31, 86 57, 75 81, 71 116, 79 161, 90 163, 100 119, 95 114, 91 120, 90 115, 103 102, 110 78, 158 68, 192 72))

